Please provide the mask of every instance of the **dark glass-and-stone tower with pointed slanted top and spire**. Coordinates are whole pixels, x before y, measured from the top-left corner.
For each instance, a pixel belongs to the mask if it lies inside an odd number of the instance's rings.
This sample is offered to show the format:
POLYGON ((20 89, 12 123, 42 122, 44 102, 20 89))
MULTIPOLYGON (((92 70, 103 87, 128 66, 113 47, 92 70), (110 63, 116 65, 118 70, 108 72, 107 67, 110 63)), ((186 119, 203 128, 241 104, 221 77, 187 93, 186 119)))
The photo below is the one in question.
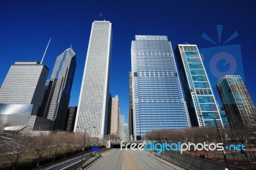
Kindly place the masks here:
POLYGON ((54 130, 66 130, 67 109, 76 70, 76 54, 69 48, 57 57, 39 116, 54 120, 54 130))

